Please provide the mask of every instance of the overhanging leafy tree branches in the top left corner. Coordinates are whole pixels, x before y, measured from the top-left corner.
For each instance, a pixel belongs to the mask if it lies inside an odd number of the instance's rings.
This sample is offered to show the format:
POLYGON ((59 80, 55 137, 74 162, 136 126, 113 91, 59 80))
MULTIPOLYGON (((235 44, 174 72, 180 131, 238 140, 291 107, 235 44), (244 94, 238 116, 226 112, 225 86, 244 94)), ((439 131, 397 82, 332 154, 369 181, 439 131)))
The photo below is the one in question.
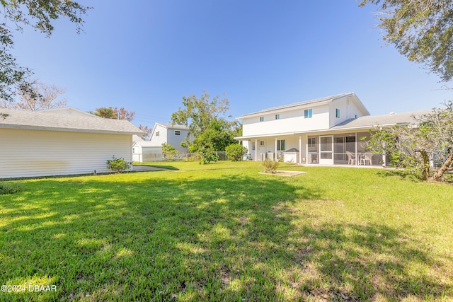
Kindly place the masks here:
POLYGON ((71 0, 1 0, 0 7, 0 18, 4 21, 0 23, 0 99, 12 102, 16 91, 28 83, 31 71, 19 66, 11 54, 14 42, 10 25, 18 30, 22 30, 21 25, 30 25, 50 37, 53 21, 66 17, 76 24, 79 33, 84 23, 81 16, 91 7, 71 0))

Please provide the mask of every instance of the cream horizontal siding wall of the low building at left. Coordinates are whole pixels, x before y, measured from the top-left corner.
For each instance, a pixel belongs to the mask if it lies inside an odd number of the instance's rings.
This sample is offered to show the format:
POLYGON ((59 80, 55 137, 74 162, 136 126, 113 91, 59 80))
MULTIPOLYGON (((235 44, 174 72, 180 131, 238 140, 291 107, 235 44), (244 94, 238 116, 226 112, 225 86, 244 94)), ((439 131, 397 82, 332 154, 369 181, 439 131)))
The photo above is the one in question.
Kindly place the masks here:
POLYGON ((132 135, 0 129, 0 178, 109 172, 115 156, 132 161, 132 135))

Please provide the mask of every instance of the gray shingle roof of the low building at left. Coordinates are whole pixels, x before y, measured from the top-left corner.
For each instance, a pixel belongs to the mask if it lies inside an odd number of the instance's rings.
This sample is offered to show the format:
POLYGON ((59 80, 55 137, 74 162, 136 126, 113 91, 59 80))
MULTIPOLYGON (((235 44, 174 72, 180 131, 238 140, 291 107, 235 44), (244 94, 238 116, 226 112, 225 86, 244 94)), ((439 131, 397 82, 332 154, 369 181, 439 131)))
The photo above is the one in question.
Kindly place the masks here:
POLYGON ((127 120, 110 120, 84 115, 65 115, 46 111, 1 109, 0 128, 92 132, 110 134, 141 134, 140 129, 127 120))

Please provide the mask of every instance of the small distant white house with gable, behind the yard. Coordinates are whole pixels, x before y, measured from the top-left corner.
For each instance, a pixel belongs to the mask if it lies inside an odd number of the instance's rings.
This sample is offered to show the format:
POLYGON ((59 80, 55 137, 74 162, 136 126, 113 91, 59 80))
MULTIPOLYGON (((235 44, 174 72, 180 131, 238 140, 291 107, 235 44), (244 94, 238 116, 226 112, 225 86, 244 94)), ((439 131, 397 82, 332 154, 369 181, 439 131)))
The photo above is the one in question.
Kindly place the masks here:
POLYGON ((162 146, 163 143, 171 144, 180 153, 188 152, 187 148, 181 146, 189 135, 189 127, 181 124, 154 124, 153 132, 149 141, 162 146))

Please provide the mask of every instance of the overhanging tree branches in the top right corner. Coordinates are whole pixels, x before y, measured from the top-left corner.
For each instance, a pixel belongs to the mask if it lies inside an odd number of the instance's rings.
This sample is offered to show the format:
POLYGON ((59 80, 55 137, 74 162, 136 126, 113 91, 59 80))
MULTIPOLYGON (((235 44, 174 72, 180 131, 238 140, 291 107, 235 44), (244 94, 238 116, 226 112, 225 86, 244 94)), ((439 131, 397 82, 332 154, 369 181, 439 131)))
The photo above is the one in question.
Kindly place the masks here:
POLYGON ((378 6, 383 38, 442 81, 453 78, 453 0, 362 0, 378 6))

